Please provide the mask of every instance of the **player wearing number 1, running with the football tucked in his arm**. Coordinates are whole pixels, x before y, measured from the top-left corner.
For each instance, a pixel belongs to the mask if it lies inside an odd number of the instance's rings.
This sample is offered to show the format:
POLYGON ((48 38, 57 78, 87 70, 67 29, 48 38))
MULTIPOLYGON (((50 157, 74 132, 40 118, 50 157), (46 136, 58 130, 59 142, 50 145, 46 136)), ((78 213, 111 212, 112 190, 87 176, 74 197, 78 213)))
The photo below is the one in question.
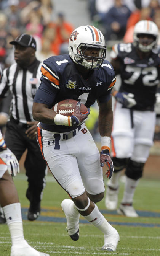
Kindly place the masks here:
POLYGON ((69 194, 62 210, 67 219, 67 232, 72 240, 79 238, 79 217, 104 233, 104 251, 115 251, 119 235, 97 205, 104 197, 102 167, 109 166, 111 178, 113 163, 110 158, 112 130, 111 90, 115 84, 115 72, 105 60, 104 36, 93 26, 80 26, 69 39, 69 54, 53 56, 42 63, 41 85, 32 108, 33 117, 40 121, 37 141, 43 157, 56 181, 69 194), (71 117, 57 114, 51 108, 64 99, 77 100, 71 117), (101 154, 85 126, 90 106, 98 101, 101 154), (80 104, 88 108, 80 113, 80 104))

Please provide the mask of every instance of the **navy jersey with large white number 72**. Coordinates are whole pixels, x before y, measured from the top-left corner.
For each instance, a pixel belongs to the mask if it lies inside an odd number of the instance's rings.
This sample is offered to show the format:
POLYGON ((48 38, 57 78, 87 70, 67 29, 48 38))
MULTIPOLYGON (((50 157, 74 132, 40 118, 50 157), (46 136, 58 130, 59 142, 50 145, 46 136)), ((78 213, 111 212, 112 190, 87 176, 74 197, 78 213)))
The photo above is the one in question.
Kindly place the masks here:
POLYGON ((140 59, 133 44, 120 43, 113 47, 110 57, 122 63, 120 91, 134 94, 137 104, 132 109, 153 110, 160 82, 160 48, 152 50, 146 59, 140 59))

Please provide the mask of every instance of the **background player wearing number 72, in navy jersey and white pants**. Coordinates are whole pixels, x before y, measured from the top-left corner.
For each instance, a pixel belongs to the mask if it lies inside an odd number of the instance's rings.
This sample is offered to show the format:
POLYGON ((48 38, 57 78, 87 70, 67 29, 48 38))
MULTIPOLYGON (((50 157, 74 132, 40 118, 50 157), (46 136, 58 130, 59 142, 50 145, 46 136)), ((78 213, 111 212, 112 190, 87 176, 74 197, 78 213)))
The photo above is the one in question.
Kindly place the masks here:
POLYGON ((134 42, 115 44, 110 54, 115 74, 120 74, 112 130, 114 174, 108 182, 105 205, 117 209, 119 178, 125 168, 125 191, 118 214, 138 217, 134 191, 153 144, 157 85, 160 82, 160 47, 157 25, 148 20, 134 27, 134 42))

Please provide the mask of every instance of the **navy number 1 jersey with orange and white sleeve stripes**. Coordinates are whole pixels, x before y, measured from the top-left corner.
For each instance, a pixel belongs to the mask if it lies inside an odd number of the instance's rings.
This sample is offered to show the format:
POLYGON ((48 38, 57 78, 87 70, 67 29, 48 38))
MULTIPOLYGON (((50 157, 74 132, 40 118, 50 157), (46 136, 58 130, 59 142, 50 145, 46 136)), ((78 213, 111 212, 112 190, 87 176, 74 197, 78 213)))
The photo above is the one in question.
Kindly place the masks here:
MULTIPOLYGON (((116 78, 112 65, 104 60, 99 70, 94 70, 87 80, 83 79, 68 54, 53 56, 42 63, 41 85, 34 102, 52 108, 63 99, 75 99, 89 108, 96 99, 105 103, 110 99, 116 78)), ((43 129, 53 132, 67 132, 75 127, 41 123, 43 129)))

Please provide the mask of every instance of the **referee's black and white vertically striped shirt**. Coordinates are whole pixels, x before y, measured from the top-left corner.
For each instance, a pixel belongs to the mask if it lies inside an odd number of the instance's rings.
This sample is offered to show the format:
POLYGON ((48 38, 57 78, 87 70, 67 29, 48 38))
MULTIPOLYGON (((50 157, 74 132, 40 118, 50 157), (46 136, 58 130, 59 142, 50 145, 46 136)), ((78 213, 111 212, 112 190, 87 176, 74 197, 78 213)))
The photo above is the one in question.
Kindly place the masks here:
POLYGON ((37 59, 25 68, 14 63, 3 70, 0 82, 0 98, 6 97, 10 91, 13 95, 11 101, 11 115, 22 123, 34 121, 32 117, 32 104, 35 93, 40 86, 41 62, 37 59))

